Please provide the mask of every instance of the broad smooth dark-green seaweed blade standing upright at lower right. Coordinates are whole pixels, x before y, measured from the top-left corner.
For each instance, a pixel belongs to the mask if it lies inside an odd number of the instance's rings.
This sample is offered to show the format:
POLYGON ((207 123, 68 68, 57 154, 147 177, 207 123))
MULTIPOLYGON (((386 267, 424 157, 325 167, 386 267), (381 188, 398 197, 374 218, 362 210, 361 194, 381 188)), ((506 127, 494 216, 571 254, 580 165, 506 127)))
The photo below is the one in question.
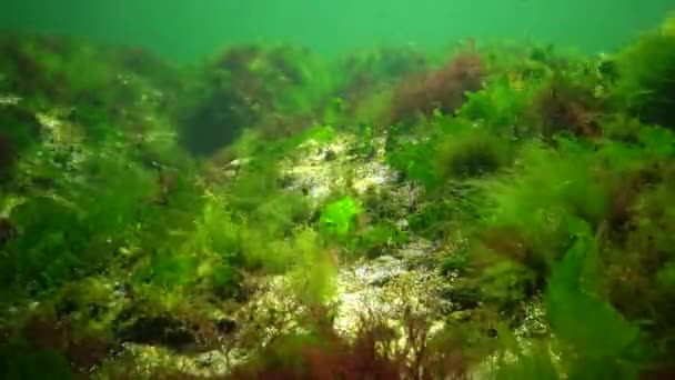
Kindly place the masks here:
POLYGON ((580 223, 576 241, 555 266, 546 290, 546 312, 564 344, 570 376, 632 379, 637 372, 639 330, 600 296, 600 261, 588 227, 580 223), (567 306, 584 310, 584 323, 567 306), (575 356, 577 356, 575 358, 575 356))

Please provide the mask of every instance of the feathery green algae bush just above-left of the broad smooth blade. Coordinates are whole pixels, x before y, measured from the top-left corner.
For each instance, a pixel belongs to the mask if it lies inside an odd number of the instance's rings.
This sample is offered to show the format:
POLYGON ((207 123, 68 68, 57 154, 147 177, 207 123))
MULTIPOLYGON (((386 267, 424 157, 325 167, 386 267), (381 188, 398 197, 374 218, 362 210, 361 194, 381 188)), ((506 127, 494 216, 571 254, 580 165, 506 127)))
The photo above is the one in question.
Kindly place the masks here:
POLYGON ((609 190, 594 179, 592 153, 574 142, 566 147, 526 146, 521 159, 527 167, 515 169, 522 172, 483 183, 480 241, 532 270, 538 286, 570 244, 570 218, 598 228, 608 208, 609 190))

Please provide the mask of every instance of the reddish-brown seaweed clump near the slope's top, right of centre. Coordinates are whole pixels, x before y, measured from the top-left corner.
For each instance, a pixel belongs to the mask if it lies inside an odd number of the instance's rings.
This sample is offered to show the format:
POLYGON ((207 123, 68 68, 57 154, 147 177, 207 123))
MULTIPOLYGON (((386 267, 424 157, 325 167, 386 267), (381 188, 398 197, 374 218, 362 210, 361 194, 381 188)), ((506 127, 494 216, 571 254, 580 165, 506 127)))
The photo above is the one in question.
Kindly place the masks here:
POLYGON ((394 92, 392 121, 429 116, 434 110, 454 112, 464 103, 466 92, 481 89, 484 74, 481 56, 463 52, 434 72, 407 78, 394 92))

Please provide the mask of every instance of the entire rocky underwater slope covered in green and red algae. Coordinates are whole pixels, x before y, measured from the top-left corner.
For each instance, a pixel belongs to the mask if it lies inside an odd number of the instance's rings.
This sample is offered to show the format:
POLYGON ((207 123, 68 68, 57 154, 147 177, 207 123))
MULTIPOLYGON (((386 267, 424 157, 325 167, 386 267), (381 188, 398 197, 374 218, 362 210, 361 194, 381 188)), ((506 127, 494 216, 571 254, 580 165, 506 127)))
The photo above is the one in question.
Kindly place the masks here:
POLYGON ((672 377, 674 24, 191 67, 2 37, 0 372, 672 377))

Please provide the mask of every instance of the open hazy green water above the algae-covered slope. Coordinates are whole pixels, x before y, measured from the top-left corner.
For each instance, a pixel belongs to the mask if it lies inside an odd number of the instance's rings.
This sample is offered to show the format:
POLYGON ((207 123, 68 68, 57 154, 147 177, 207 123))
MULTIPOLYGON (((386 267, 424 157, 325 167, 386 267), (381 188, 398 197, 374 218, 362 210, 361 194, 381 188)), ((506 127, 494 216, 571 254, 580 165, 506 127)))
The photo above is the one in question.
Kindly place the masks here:
POLYGON ((7 0, 0 27, 87 36, 193 60, 242 41, 321 53, 374 44, 445 47, 463 38, 530 38, 612 50, 656 24, 671 0, 7 0))

